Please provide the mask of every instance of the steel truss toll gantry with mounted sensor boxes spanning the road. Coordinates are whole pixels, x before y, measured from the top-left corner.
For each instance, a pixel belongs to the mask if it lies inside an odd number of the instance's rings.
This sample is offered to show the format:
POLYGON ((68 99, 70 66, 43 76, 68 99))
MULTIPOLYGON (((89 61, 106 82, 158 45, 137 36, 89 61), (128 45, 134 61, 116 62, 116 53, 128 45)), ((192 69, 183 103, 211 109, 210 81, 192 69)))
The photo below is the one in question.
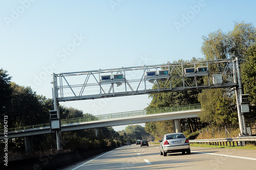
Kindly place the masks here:
MULTIPOLYGON (((54 110, 60 118, 59 102, 234 87, 240 131, 246 135, 239 101, 243 94, 240 74, 238 58, 53 73, 54 110)), ((56 134, 59 150, 60 131, 56 134)))

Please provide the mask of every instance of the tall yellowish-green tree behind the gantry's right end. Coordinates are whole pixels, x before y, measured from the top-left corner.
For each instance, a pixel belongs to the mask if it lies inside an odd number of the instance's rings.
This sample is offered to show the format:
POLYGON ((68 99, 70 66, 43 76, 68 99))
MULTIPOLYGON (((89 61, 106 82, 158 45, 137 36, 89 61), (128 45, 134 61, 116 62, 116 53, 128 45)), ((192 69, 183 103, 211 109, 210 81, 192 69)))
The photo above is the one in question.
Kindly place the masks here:
MULTIPOLYGON (((252 59, 252 49, 255 42, 256 29, 252 23, 235 22, 234 29, 227 33, 217 30, 216 32, 209 33, 207 37, 203 36, 201 47, 202 54, 206 60, 238 57, 242 61, 242 80, 245 84, 245 91, 248 89, 252 93, 251 99, 254 98, 252 91, 253 87, 255 87, 255 84, 251 83, 251 81, 253 82, 255 77, 252 76, 253 74, 250 75, 249 72, 252 70, 253 62, 255 62, 252 59), (252 53, 248 53, 249 49, 251 49, 252 53), (246 77, 247 75, 249 76, 246 77), (248 84, 250 85, 248 86, 248 84)), ((222 71, 223 68, 209 69, 222 71)), ((200 115, 201 120, 212 125, 223 125, 222 122, 224 124, 235 124, 237 121, 237 109, 235 102, 232 100, 234 98, 233 91, 228 88, 203 90, 199 96, 199 101, 203 107, 203 112, 200 115), (225 100, 222 100, 222 97, 225 100), (229 119, 226 117, 228 114, 230 116, 229 119)))

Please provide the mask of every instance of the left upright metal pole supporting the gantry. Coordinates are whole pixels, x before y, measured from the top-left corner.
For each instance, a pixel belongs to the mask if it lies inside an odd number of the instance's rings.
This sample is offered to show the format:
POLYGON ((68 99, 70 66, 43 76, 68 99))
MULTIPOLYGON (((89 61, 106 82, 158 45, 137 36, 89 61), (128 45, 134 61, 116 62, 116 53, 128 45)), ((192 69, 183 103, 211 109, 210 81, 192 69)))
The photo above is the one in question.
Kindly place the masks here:
MULTIPOLYGON (((59 104, 57 102, 57 77, 55 74, 52 74, 53 77, 53 109, 58 111, 57 118, 60 118, 59 114, 59 104)), ((60 125, 59 125, 60 126, 60 125)), ((61 133, 60 131, 56 131, 56 142, 57 142, 57 150, 61 150, 61 133)))

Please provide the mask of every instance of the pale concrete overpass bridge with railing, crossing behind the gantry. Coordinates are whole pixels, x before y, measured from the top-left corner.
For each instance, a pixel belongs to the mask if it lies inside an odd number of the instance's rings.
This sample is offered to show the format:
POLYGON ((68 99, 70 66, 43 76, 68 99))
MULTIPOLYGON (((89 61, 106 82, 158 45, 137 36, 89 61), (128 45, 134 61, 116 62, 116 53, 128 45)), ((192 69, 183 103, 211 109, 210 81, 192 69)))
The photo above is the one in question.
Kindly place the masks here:
MULTIPOLYGON (((163 120, 174 121, 174 131, 180 132, 179 119, 197 117, 201 112, 201 104, 165 107, 151 110, 139 110, 122 113, 111 113, 96 116, 77 117, 61 120, 61 131, 75 131, 95 128, 96 135, 101 127, 131 125, 163 120)), ((33 135, 54 133, 50 124, 32 125, 26 127, 8 129, 8 132, 0 130, 0 140, 25 137, 26 152, 33 151, 33 135), (6 136, 7 134, 7 136, 6 136)))

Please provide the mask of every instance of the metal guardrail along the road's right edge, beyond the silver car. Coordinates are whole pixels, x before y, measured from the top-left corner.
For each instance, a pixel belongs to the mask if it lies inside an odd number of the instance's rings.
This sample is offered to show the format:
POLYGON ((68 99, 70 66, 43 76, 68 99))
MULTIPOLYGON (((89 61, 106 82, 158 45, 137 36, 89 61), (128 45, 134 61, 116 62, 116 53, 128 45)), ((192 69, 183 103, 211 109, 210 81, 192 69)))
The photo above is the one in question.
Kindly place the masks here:
POLYGON ((234 147, 234 142, 237 142, 237 145, 242 146, 242 142, 246 141, 252 141, 254 142, 254 145, 256 146, 256 137, 255 136, 249 136, 249 137, 232 137, 232 138, 220 138, 220 139, 200 139, 200 140, 189 140, 190 143, 209 143, 210 145, 224 145, 226 143, 226 146, 228 145, 227 143, 229 142, 229 146, 231 147, 231 142, 234 147), (222 144, 221 144, 222 143, 222 144))

